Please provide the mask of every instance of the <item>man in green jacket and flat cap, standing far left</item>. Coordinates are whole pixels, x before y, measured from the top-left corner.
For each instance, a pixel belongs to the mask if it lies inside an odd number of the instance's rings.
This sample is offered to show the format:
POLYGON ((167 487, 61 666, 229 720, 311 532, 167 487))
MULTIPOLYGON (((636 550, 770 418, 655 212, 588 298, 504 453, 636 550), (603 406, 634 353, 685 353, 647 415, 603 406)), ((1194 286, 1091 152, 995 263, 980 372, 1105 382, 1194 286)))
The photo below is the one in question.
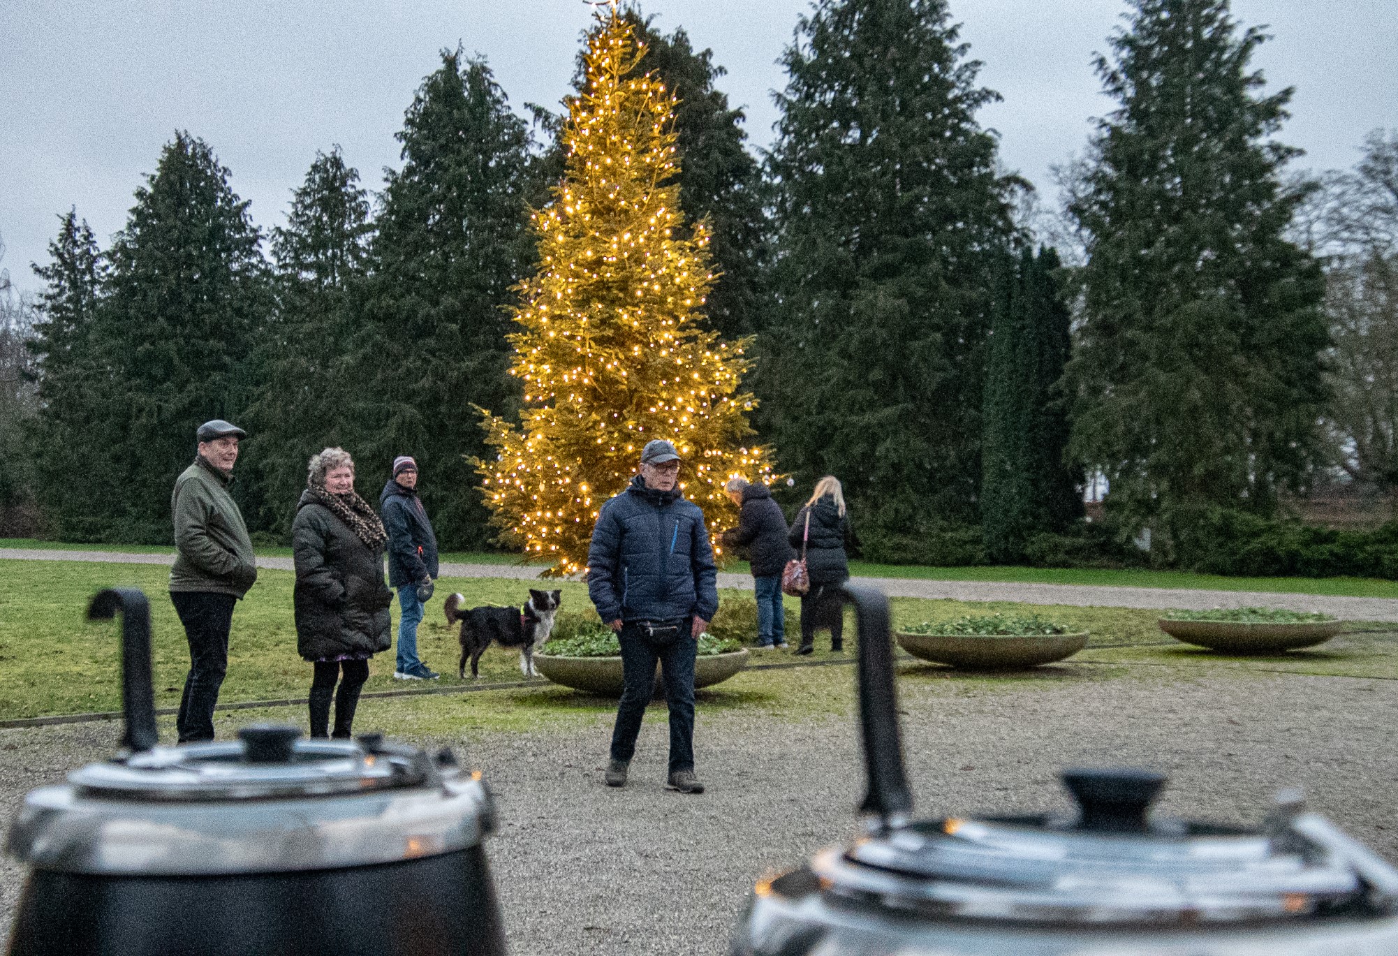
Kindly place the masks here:
POLYGON ((214 706, 228 671, 228 630, 233 604, 257 580, 253 542, 242 512, 228 493, 238 442, 247 433, 221 418, 194 433, 199 454, 175 479, 175 566, 171 602, 189 639, 189 676, 179 702, 179 742, 214 739, 214 706))

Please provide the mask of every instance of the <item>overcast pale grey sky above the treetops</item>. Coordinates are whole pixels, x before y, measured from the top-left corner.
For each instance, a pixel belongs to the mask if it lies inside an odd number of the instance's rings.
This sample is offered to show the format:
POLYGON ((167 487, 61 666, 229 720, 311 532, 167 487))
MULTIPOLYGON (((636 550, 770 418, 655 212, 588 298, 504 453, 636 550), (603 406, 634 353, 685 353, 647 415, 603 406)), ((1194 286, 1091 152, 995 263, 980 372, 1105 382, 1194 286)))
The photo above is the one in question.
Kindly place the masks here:
MULTIPOLYGON (((807 0, 646 0, 728 70, 720 87, 768 145, 784 82, 776 59, 807 0)), ((1007 166, 1053 198, 1050 166, 1081 151, 1110 110, 1092 56, 1121 22, 1120 0, 952 0, 1007 166)), ((1296 87, 1282 140, 1300 165, 1349 166, 1364 134, 1398 127, 1398 0, 1234 0, 1275 39, 1257 66, 1296 87)), ((46 259, 56 215, 75 205, 106 246, 131 193, 176 129, 212 145, 264 228, 282 221, 316 150, 344 147, 363 182, 398 162, 393 138, 438 50, 482 53, 516 109, 566 92, 583 0, 0 0, 0 239, 20 288, 46 259)))

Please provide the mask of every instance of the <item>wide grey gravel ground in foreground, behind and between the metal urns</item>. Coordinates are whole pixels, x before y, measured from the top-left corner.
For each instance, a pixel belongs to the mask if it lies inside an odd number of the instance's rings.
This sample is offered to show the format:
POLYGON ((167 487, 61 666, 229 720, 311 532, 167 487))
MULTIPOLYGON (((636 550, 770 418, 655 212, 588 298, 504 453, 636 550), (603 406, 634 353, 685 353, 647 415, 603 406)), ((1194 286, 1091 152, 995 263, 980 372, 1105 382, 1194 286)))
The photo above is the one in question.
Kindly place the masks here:
MULTIPOLYGON (((1302 784, 1313 808, 1398 855, 1388 731, 1398 682, 1186 667, 1081 681, 1075 671, 994 683, 905 678, 920 813, 1062 806, 1057 769, 1146 765, 1172 776, 1165 812, 1257 822, 1276 788, 1302 784)), ((0 731, 0 826, 27 790, 108 755, 116 732, 0 731)), ((582 731, 456 742, 499 795, 489 855, 514 953, 724 953, 758 876, 856 833, 863 770, 853 720, 798 724, 761 704, 700 709, 702 797, 661 787, 661 706, 647 714, 621 791, 601 783, 608 732, 610 718, 598 717, 582 731)), ((13 861, 0 864, 0 934, 20 878, 13 861)))

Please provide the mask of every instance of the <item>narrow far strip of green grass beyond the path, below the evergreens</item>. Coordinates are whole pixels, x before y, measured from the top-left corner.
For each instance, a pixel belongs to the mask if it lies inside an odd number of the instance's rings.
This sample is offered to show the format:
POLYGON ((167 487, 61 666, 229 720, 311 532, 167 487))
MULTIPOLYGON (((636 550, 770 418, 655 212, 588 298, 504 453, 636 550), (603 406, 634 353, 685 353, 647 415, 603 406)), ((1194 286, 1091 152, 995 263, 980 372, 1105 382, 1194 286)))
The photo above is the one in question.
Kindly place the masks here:
MULTIPOLYGON (((46 548, 50 551, 122 551, 131 553, 172 553, 173 548, 154 545, 60 544, 34 538, 0 538, 0 548, 46 548)), ((289 558, 291 548, 259 548, 267 558, 289 558)), ((492 551, 443 552, 446 563, 516 565, 520 555, 492 551)), ((735 560, 724 570, 748 573, 748 563, 735 560)), ((1092 587, 1162 587, 1208 591, 1267 591, 1272 594, 1327 594, 1343 597, 1398 598, 1398 581, 1373 577, 1223 577, 1194 572, 1095 567, 928 567, 924 565, 872 565, 850 562, 850 572, 860 577, 905 577, 937 581, 1007 581, 1015 584, 1086 584, 1092 587)))

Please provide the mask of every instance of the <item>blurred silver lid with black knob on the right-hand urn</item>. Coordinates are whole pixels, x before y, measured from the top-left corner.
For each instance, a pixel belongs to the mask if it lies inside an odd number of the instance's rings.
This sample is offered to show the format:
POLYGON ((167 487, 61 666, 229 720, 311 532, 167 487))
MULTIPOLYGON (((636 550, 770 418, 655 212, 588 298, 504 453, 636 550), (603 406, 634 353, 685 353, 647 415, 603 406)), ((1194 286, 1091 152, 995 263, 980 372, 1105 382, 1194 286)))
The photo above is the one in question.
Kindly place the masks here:
POLYGON ((1257 829, 1160 819, 1144 770, 1069 770, 1071 815, 945 818, 821 854, 830 892, 938 918, 1195 925, 1390 913, 1398 871, 1288 794, 1257 829))

